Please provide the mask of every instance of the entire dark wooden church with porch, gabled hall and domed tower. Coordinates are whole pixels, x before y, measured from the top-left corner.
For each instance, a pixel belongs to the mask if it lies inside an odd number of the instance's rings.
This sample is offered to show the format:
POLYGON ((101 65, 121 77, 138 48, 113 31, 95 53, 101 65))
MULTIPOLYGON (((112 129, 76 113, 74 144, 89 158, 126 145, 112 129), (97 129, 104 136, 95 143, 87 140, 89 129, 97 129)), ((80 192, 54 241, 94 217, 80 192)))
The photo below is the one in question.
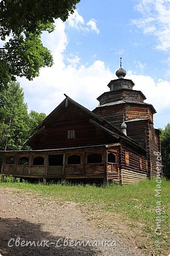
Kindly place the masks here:
POLYGON ((139 182, 155 175, 160 151, 154 129, 155 108, 133 90, 126 71, 116 71, 110 91, 98 97, 93 111, 67 95, 37 127, 27 146, 32 150, 4 151, 2 175, 47 180, 114 180, 139 182))

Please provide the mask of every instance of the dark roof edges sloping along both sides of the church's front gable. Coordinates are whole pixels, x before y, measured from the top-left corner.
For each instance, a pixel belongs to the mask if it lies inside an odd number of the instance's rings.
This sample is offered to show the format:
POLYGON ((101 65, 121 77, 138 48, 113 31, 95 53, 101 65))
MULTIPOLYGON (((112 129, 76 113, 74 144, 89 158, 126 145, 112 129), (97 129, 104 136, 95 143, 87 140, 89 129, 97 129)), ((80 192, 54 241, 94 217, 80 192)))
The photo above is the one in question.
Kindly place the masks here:
POLYGON ((142 147, 140 147, 138 145, 138 142, 134 141, 133 139, 129 138, 128 136, 126 136, 122 131, 118 130, 115 126, 113 126, 111 123, 109 123, 108 121, 106 121, 104 118, 101 118, 100 116, 96 115, 95 113, 93 113, 92 111, 90 111, 89 109, 83 107, 82 105, 80 105, 78 102, 72 100, 69 96, 65 95, 65 99, 60 103, 60 105, 58 105, 44 120, 43 122, 41 122, 35 129, 35 131, 37 131, 26 143, 25 145, 29 145, 29 142, 31 142, 35 137, 37 137, 37 135, 41 132, 44 132, 46 130, 46 125, 50 124, 53 122, 54 119, 56 119, 57 116, 59 116, 62 111, 64 111, 65 108, 67 108, 68 105, 68 101, 72 102, 75 106, 81 108, 83 111, 86 111, 86 113, 88 113, 91 118, 89 119, 89 122, 97 127, 99 127, 100 129, 104 130, 106 133, 112 135, 114 138, 116 139, 122 139, 128 143, 131 143, 131 145, 135 146, 135 147, 139 147, 142 150, 142 147))

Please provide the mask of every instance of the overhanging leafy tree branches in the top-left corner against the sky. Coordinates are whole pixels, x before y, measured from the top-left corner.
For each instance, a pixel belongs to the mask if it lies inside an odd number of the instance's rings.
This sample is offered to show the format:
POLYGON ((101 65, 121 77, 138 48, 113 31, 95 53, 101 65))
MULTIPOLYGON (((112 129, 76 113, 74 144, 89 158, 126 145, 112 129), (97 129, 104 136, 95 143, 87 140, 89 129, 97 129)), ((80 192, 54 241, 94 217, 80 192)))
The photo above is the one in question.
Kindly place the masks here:
POLYGON ((54 30, 57 18, 65 21, 80 0, 2 0, 0 2, 0 86, 15 76, 29 80, 41 67, 52 66, 53 57, 41 42, 41 33, 54 30), (6 39, 10 39, 6 42, 6 39))

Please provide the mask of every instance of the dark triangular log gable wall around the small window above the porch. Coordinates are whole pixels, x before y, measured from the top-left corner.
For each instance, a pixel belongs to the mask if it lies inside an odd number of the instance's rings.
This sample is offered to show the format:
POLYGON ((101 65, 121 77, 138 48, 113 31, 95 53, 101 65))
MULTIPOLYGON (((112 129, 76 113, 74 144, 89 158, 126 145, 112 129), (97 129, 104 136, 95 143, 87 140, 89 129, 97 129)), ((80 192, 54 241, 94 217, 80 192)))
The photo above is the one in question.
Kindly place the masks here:
POLYGON ((89 123, 91 116, 82 109, 69 102, 61 116, 51 124, 47 124, 45 131, 30 141, 29 145, 35 150, 69 148, 114 143, 114 138, 105 131, 89 123), (68 139, 67 131, 75 130, 75 138, 68 139))

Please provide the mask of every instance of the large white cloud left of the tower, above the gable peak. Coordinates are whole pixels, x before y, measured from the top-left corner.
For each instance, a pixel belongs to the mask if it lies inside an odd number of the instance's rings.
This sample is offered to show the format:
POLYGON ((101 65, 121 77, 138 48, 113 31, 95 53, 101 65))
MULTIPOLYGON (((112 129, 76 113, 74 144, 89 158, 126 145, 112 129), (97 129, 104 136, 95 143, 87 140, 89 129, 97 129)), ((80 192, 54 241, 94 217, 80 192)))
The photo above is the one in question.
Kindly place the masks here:
POLYGON ((96 60, 91 65, 82 65, 78 54, 65 55, 69 44, 65 32, 66 24, 57 20, 56 30, 47 36, 46 33, 43 35, 44 45, 52 50, 54 65, 51 68, 42 68, 39 77, 31 82, 18 78, 29 110, 49 114, 65 98, 64 93, 93 109, 98 106, 95 99, 108 90, 107 84, 113 74, 103 61, 96 60))

